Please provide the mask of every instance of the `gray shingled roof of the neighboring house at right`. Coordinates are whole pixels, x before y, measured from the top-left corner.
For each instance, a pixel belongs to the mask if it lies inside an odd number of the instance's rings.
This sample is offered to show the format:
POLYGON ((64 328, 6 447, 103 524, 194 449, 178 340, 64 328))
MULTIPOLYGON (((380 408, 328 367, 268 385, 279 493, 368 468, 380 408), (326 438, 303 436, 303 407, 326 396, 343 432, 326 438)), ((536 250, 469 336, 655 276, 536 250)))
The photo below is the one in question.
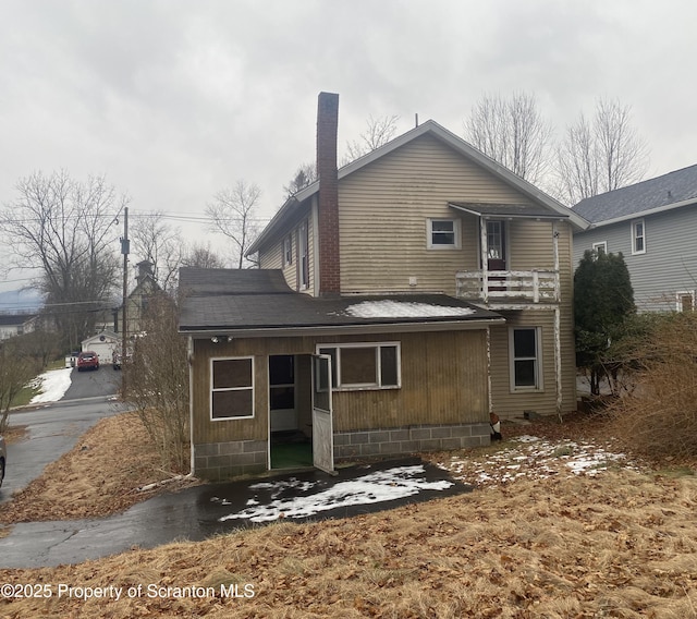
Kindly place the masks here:
POLYGON ((670 208, 671 205, 693 199, 697 201, 697 165, 587 197, 574 206, 574 211, 591 223, 599 223, 655 208, 670 208))

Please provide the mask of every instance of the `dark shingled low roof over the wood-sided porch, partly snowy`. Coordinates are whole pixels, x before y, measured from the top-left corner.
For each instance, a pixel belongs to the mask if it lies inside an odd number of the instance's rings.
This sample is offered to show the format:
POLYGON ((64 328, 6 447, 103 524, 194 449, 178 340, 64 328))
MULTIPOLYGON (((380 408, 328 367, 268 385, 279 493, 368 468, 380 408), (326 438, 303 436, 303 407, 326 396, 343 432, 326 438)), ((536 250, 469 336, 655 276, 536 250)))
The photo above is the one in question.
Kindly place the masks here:
POLYGON ((444 294, 313 298, 294 292, 280 270, 270 269, 183 268, 180 286, 186 291, 180 332, 503 320, 494 312, 444 294), (433 312, 418 316, 356 312, 358 304, 386 301, 403 304, 405 310, 423 304, 433 312))

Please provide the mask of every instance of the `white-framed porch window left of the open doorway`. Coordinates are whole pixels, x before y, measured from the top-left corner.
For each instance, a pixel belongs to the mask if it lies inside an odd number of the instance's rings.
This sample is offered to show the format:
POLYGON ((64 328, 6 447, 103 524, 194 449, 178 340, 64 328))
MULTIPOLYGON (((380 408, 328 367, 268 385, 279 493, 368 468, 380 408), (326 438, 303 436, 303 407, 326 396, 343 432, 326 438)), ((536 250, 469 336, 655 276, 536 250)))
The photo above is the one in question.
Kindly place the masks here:
POLYGON ((254 417, 254 357, 210 360, 210 418, 254 417))

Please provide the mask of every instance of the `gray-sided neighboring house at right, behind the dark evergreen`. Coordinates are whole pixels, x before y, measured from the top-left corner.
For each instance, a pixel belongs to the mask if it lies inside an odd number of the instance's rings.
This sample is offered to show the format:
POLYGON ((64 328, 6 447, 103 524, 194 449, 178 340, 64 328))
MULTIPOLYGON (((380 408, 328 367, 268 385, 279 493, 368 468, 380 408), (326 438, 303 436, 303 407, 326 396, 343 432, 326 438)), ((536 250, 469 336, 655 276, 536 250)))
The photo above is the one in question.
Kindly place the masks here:
POLYGON ((622 253, 640 312, 693 311, 697 289, 697 166, 579 202, 590 221, 574 236, 586 250, 622 253))

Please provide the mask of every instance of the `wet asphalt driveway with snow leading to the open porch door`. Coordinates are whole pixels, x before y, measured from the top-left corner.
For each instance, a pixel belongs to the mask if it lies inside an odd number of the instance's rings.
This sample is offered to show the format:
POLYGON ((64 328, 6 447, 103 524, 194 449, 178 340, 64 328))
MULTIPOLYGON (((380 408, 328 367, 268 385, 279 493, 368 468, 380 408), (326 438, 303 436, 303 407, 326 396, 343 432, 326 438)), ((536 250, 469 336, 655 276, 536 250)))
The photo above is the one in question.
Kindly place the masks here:
POLYGON ((0 539, 0 568, 77 563, 173 541, 201 541, 278 519, 346 518, 436 497, 467 486, 418 458, 187 488, 109 518, 15 524, 0 539))

